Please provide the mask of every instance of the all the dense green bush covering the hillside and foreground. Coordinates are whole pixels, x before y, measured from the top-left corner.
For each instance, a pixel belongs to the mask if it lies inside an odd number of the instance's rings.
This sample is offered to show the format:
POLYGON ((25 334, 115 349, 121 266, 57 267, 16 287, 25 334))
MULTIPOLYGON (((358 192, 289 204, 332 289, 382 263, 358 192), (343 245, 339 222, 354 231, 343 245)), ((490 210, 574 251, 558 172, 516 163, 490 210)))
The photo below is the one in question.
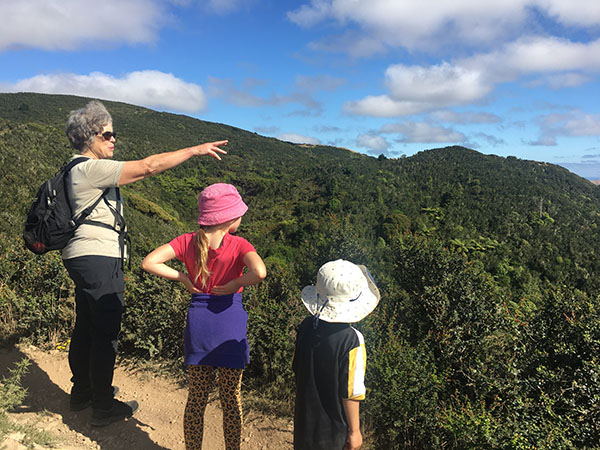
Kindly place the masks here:
MULTIPOLYGON (((72 154, 64 134, 88 99, 0 94, 0 338, 68 339, 72 284, 53 252, 24 249, 40 183, 72 154)), ((115 158, 229 139, 125 186, 133 240, 121 352, 178 363, 187 295, 141 259, 195 228, 198 193, 234 184, 238 233, 268 277, 245 291, 245 388, 293 403, 299 294, 323 263, 365 264, 382 292, 355 326, 368 353, 363 420, 375 448, 575 449, 600 442, 600 191, 564 168, 462 147, 411 157, 295 145, 224 124, 104 102, 115 158)))

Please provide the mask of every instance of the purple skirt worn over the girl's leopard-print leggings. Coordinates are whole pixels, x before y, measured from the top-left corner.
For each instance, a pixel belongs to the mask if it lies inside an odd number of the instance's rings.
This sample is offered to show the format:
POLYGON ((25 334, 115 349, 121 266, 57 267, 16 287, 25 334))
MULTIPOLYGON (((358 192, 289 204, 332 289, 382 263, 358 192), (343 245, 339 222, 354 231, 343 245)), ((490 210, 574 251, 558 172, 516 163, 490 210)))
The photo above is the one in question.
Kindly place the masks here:
POLYGON ((185 324, 185 364, 243 369, 250 362, 242 294, 193 294, 185 324))

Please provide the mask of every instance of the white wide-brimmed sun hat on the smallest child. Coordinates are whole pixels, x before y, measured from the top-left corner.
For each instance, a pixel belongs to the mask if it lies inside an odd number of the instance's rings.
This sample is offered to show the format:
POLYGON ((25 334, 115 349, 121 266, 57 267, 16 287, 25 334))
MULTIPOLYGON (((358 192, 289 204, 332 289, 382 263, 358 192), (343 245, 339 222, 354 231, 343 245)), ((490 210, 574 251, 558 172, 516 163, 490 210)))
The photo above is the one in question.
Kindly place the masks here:
POLYGON ((315 318, 353 323, 375 309, 380 295, 365 266, 338 259, 321 266, 316 286, 306 286, 300 298, 315 318))

